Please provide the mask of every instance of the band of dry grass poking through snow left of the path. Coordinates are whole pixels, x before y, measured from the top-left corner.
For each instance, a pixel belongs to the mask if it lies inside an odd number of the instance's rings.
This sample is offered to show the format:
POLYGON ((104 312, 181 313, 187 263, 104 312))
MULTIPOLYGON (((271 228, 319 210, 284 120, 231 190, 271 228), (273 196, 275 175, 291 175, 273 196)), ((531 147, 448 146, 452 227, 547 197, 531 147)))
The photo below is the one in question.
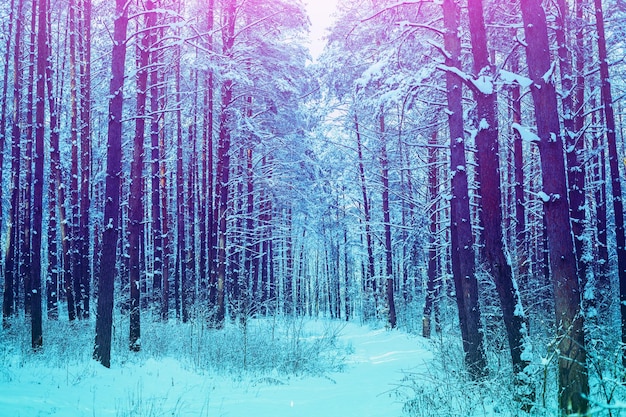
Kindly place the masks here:
MULTIPOLYGON (((320 376, 340 371, 350 347, 343 345, 337 322, 270 317, 250 319, 245 325, 228 322, 216 330, 204 320, 167 323, 144 319, 142 350, 129 351, 128 319, 114 323, 112 366, 148 359, 174 358, 194 372, 251 375, 320 376)), ((11 367, 43 362, 49 367, 91 361, 94 323, 48 321, 41 353, 30 351, 30 328, 23 318, 14 319, 9 329, 0 330, 0 379, 10 381, 11 367)))

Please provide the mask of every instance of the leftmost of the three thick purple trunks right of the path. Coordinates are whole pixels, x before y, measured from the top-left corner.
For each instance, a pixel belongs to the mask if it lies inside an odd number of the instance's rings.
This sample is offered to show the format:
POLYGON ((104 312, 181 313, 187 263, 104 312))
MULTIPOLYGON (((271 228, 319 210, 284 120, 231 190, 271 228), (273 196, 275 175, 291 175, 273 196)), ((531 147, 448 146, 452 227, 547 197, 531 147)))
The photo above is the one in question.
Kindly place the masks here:
MULTIPOLYGON (((458 0, 444 0, 443 16, 446 33, 444 42, 449 56, 448 67, 460 68, 461 41, 459 38, 458 0)), ((478 304, 478 282, 474 260, 474 236, 470 219, 467 164, 463 127, 461 80, 452 73, 446 74, 448 97, 448 124, 450 129, 450 170, 452 172, 450 201, 450 241, 452 275, 456 289, 461 337, 465 363, 473 378, 487 373, 487 360, 483 347, 483 331, 478 304)))

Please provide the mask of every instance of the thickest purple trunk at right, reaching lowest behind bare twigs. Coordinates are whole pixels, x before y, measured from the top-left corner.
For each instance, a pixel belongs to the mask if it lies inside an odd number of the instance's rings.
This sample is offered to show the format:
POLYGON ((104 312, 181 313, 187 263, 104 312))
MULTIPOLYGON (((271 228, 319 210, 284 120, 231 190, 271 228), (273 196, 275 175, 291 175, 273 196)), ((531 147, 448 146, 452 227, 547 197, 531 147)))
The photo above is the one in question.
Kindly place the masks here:
POLYGON ((557 324, 559 409, 562 415, 589 410, 589 382, 586 365, 580 288, 567 201, 567 177, 560 135, 556 89, 552 83, 554 64, 545 12, 539 0, 521 3, 526 35, 526 62, 533 81, 541 176, 548 240, 550 274, 554 286, 557 324))

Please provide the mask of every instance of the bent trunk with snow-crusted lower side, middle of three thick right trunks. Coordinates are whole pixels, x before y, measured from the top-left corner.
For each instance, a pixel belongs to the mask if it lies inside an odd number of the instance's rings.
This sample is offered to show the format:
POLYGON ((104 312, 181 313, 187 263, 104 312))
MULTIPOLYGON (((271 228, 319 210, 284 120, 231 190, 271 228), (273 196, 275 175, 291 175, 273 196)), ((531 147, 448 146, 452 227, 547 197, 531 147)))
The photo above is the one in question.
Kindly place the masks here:
MULTIPOLYGON (((477 77, 492 77, 489 61, 487 31, 485 29, 482 0, 468 0, 470 37, 474 72, 477 77)), ((496 291, 502 308, 502 318, 511 351, 513 374, 520 400, 525 409, 534 401, 534 390, 525 373, 530 364, 523 359, 524 349, 531 349, 528 339, 528 325, 522 307, 522 300, 514 281, 513 268, 506 247, 504 222, 502 218, 502 190, 500 184, 500 147, 498 143, 497 97, 493 91, 474 91, 476 99, 476 148, 480 195, 482 203, 482 223, 485 256, 485 269, 494 278, 496 291)))

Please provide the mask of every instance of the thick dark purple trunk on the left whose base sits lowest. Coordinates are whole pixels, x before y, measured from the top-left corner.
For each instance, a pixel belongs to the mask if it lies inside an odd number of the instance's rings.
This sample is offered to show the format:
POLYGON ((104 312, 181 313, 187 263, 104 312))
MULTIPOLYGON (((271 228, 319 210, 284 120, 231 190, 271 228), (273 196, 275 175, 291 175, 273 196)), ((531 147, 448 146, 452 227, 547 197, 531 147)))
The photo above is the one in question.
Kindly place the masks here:
POLYGON ((98 279, 98 307, 94 359, 111 367, 113 325, 113 283, 119 235, 120 175, 122 170, 122 110, 124 104, 124 64, 126 61, 127 1, 116 0, 113 26, 111 81, 109 86, 109 126, 107 137, 107 177, 102 232, 102 258, 98 279))

